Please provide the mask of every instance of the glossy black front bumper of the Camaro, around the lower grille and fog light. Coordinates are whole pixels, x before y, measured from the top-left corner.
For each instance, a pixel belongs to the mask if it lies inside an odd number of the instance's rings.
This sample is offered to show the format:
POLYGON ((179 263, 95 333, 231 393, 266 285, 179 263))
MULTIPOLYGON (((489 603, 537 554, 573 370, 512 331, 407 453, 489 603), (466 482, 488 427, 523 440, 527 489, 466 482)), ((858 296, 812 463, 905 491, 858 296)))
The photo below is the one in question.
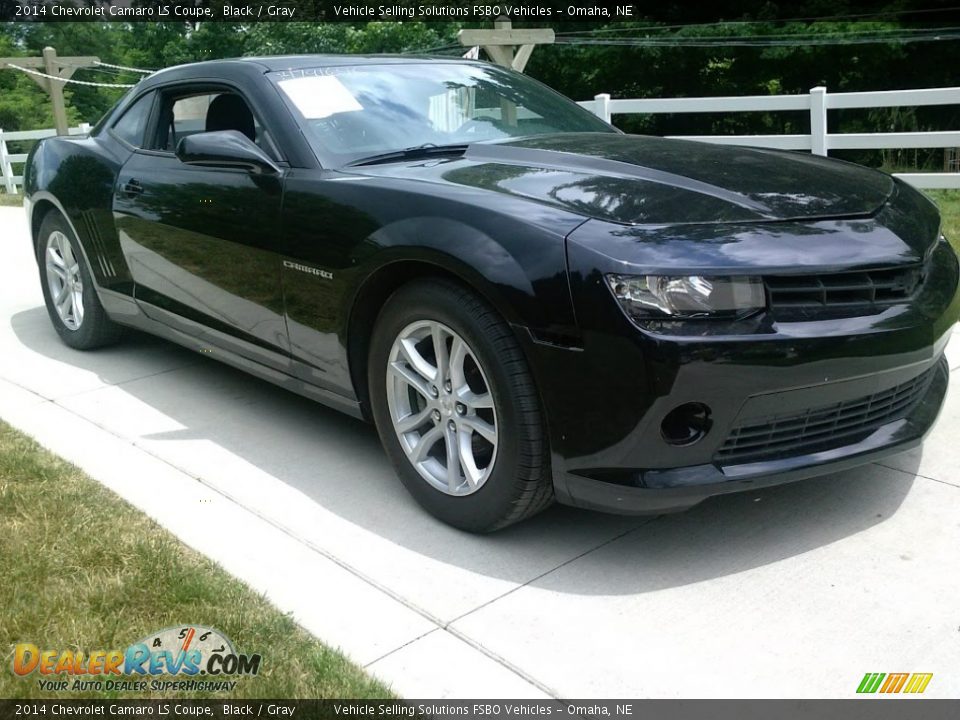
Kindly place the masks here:
POLYGON ((622 262, 576 243, 568 258, 579 343, 561 347, 535 332, 524 338, 562 503, 669 512, 711 495, 862 465, 919 444, 943 402, 943 354, 960 316, 960 264, 945 241, 931 248, 929 274, 908 300, 853 317, 769 314, 737 332, 639 328, 603 282, 603 273, 619 271, 622 262), (869 403, 925 374, 929 382, 902 413, 842 440, 799 443, 759 458, 731 459, 728 452, 738 428, 869 403), (710 428, 695 443, 671 444, 664 420, 686 403, 710 409, 710 428))

